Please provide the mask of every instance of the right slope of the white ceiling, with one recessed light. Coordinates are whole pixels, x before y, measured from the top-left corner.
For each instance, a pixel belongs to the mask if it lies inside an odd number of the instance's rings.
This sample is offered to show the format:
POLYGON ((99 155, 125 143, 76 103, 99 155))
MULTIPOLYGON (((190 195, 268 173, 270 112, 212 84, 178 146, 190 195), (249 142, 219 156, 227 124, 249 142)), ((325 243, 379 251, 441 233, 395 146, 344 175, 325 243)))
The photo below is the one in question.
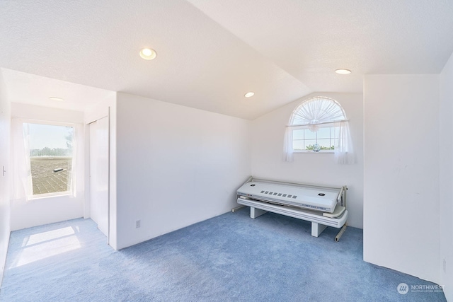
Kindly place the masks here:
POLYGON ((452 0, 188 1, 314 91, 362 92, 364 74, 438 74, 453 52, 452 0))

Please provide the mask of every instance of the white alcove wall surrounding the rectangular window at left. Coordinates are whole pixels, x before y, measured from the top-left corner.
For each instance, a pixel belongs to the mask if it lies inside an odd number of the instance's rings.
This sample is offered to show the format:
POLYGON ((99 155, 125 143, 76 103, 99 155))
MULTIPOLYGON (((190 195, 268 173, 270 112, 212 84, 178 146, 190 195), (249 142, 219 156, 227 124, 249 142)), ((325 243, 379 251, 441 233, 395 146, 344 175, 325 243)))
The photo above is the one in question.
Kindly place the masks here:
MULTIPOLYGON (((11 115, 24 119, 84 124, 84 113, 55 108, 45 108, 21 103, 11 104, 11 115)), ((84 149, 84 134, 76 137, 84 149)), ((79 149, 79 148, 78 148, 79 149)), ((75 219, 84 215, 84 154, 81 152, 76 167, 76 197, 55 196, 25 201, 11 201, 11 231, 31 226, 75 219)))

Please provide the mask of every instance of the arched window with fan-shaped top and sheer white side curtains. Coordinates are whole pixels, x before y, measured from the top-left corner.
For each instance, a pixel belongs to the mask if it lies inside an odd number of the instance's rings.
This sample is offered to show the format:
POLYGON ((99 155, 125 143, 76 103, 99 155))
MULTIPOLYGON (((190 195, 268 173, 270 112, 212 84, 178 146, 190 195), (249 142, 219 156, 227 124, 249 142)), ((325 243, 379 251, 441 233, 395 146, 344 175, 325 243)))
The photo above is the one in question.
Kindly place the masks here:
POLYGON ((285 160, 292 161, 294 152, 333 152, 338 163, 354 162, 348 119, 336 100, 317 96, 294 109, 285 132, 285 160))

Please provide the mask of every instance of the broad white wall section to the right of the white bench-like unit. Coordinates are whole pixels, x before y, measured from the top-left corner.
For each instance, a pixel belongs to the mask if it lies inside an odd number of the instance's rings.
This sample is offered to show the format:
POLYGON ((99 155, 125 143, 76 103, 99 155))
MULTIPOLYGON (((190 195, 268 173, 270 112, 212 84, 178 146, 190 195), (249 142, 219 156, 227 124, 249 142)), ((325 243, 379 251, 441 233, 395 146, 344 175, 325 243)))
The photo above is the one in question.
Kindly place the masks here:
POLYGON ((439 281, 439 76, 364 81, 364 260, 439 281))

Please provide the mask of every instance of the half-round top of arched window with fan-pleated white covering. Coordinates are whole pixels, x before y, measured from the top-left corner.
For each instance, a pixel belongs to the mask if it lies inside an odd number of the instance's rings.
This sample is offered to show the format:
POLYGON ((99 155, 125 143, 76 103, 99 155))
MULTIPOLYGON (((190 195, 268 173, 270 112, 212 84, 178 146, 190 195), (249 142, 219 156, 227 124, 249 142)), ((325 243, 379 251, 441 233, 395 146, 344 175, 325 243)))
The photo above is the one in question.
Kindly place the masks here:
POLYGON ((304 100, 292 112, 289 125, 323 124, 346 120, 345 110, 333 98, 316 96, 304 100))

